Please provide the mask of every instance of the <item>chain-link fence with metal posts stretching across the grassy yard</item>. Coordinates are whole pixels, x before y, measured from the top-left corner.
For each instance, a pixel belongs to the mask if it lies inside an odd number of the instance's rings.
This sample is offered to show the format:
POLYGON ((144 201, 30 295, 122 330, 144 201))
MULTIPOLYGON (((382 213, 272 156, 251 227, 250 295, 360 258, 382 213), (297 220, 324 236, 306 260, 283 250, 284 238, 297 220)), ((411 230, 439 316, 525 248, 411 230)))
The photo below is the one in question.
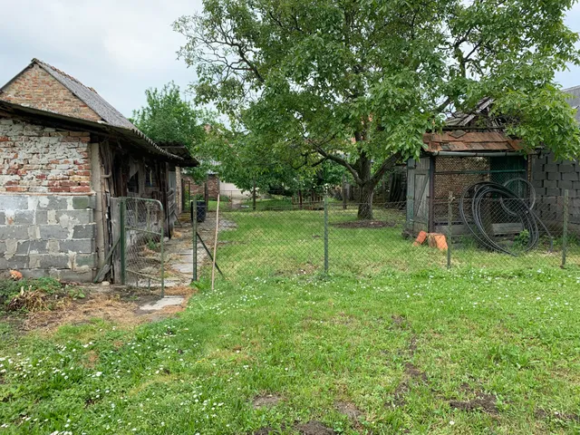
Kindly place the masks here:
MULTIPOLYGON (((564 196, 512 198, 498 191, 450 192, 448 198, 430 201, 437 218, 421 232, 406 202, 375 203, 372 218, 359 218, 358 204, 333 198, 302 204, 262 198, 256 209, 248 198, 235 207, 221 204, 218 265, 232 278, 575 267, 580 266, 580 204, 575 201, 564 196)), ((215 222, 212 210, 215 205, 210 204, 215 222)), ((206 238, 211 252, 213 239, 206 238)), ((199 275, 207 276, 210 264, 209 256, 201 261, 199 275)))

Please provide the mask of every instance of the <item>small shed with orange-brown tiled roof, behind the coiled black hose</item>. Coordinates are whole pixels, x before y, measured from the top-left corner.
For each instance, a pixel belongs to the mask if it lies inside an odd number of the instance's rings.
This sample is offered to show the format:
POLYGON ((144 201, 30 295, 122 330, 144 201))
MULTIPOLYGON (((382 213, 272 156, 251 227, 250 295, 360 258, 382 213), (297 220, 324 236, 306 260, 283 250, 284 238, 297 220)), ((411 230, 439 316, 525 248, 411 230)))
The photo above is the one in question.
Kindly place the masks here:
MULTIPOLYGON (((449 192, 459 198, 479 181, 504 184, 527 179, 527 159, 512 140, 498 131, 442 131, 426 133, 419 160, 407 161, 407 226, 411 235, 421 230, 445 232, 449 192)), ((460 224, 458 201, 452 216, 460 224)))

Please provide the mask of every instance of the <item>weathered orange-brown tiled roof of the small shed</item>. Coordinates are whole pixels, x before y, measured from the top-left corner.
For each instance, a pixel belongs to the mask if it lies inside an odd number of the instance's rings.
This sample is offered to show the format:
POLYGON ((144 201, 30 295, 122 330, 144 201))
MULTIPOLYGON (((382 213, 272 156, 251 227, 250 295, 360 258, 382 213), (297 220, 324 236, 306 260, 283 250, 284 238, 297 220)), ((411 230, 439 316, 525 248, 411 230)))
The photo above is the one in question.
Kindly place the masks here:
POLYGON ((518 151, 519 140, 494 131, 443 131, 423 135, 425 152, 518 151))

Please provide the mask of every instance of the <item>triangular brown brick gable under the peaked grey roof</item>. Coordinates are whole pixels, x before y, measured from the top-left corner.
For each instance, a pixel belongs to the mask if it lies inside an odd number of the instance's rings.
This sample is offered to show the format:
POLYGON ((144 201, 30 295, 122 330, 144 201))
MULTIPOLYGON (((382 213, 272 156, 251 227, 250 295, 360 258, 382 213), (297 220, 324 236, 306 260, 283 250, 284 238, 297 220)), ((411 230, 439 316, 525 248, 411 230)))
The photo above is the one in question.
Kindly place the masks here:
POLYGON ((101 121, 101 117, 89 106, 37 64, 24 71, 14 82, 9 83, 0 95, 0 99, 34 107, 41 111, 53 111, 74 118, 101 121))

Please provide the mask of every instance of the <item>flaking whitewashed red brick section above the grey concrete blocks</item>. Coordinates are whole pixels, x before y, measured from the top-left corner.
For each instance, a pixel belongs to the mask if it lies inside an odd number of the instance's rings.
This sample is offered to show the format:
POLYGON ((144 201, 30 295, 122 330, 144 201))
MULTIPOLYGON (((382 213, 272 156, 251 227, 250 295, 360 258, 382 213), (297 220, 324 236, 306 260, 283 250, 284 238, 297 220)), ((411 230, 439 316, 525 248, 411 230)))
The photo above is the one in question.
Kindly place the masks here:
POLYGON ((0 192, 91 192, 90 140, 0 115, 0 192))

